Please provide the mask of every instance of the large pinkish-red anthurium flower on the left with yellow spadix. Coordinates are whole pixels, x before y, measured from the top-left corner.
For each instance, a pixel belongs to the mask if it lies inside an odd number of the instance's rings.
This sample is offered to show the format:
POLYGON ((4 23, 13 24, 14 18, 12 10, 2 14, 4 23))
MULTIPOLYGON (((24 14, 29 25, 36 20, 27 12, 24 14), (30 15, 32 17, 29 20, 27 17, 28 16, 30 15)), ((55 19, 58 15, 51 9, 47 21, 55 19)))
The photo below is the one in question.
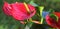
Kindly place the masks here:
POLYGON ((5 2, 3 9, 6 14, 13 16, 13 18, 15 18, 16 20, 25 20, 31 18, 36 13, 34 6, 30 4, 26 5, 29 8, 29 12, 27 11, 24 3, 18 3, 18 2, 12 4, 8 4, 5 2))

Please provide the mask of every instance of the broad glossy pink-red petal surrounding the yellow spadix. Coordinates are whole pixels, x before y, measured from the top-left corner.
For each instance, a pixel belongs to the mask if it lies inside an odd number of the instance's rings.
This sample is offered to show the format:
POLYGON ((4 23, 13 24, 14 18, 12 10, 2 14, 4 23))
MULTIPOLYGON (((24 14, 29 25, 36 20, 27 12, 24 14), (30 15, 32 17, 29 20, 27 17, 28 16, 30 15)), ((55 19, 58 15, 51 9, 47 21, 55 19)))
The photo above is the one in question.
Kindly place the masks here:
POLYGON ((25 20, 32 17, 35 14, 35 8, 31 5, 28 5, 30 13, 27 12, 23 3, 13 3, 11 4, 12 7, 12 16, 16 20, 25 20))

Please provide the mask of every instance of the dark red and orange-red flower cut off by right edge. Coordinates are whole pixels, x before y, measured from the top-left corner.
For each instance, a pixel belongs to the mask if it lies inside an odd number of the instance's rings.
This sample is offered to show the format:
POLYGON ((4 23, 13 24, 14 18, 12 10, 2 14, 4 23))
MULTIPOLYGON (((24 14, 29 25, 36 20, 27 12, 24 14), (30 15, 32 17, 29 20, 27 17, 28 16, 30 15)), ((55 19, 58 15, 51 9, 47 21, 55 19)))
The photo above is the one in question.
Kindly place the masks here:
POLYGON ((54 12, 53 14, 55 14, 58 17, 58 21, 54 20, 54 18, 51 18, 49 15, 47 15, 46 22, 51 27, 60 29, 60 12, 54 12))

